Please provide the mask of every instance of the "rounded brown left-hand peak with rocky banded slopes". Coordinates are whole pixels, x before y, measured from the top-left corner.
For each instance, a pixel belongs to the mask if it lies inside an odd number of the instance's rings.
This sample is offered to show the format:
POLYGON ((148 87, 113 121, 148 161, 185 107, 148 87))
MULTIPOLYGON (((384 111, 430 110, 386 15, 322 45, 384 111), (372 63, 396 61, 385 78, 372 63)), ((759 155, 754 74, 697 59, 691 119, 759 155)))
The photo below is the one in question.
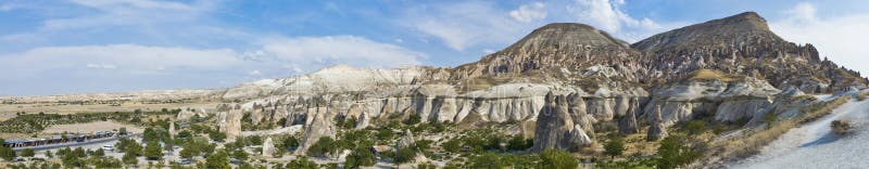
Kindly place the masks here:
MULTIPOLYGON (((551 69, 580 73, 596 65, 638 65, 637 57, 639 52, 604 31, 583 24, 555 23, 534 29, 518 42, 478 62, 456 67, 451 79, 520 75, 551 69)), ((593 73, 600 73, 600 69, 593 73)), ((616 72, 628 79, 635 79, 640 67, 622 66, 622 69, 616 72)))

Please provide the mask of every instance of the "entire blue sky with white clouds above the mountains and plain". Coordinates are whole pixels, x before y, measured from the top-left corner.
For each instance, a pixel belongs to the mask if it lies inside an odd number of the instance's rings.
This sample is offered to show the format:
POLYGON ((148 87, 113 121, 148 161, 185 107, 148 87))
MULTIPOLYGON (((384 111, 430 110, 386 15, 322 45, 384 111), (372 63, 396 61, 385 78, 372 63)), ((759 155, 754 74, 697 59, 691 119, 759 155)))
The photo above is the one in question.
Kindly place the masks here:
POLYGON ((219 89, 331 65, 453 67, 549 23, 635 42, 746 11, 869 74, 869 1, 0 0, 0 95, 219 89))

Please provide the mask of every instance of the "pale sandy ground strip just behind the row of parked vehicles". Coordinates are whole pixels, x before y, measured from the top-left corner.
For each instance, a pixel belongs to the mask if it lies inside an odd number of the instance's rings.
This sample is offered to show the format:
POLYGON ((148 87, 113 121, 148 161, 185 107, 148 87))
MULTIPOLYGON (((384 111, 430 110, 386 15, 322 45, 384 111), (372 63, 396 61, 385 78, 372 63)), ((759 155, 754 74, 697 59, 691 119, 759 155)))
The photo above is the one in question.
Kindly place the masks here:
POLYGON ((54 125, 47 128, 46 130, 42 130, 42 133, 63 133, 64 131, 90 133, 97 131, 110 131, 112 129, 118 129, 122 127, 127 128, 128 132, 141 133, 143 131, 142 128, 133 125, 124 125, 115 121, 95 121, 87 123, 54 125))

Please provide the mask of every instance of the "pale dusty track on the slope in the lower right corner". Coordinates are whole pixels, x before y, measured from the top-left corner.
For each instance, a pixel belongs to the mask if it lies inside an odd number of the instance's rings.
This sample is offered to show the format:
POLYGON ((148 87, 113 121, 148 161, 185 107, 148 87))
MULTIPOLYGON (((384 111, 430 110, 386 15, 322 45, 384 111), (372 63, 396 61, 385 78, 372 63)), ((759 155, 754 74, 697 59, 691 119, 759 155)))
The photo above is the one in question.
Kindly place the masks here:
POLYGON ((852 101, 832 114, 794 128, 765 146, 760 154, 728 168, 865 168, 869 166, 869 100, 852 101), (856 130, 840 136, 830 122, 848 119, 856 130))

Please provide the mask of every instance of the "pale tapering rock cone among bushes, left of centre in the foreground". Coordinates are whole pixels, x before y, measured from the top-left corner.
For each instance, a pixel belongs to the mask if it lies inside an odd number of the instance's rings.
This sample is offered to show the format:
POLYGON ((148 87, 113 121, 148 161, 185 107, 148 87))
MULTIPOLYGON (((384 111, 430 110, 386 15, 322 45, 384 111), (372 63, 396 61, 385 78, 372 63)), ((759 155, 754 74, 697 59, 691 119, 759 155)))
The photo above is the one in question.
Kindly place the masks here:
POLYGON ((332 122, 332 116, 329 116, 328 114, 329 113, 327 112, 314 113, 313 118, 311 118, 311 122, 305 125, 305 132, 302 136, 302 142, 295 150, 295 154, 304 155, 307 153, 307 148, 310 148, 311 145, 314 145, 314 143, 319 141, 319 139, 323 136, 335 138, 337 128, 332 122))

